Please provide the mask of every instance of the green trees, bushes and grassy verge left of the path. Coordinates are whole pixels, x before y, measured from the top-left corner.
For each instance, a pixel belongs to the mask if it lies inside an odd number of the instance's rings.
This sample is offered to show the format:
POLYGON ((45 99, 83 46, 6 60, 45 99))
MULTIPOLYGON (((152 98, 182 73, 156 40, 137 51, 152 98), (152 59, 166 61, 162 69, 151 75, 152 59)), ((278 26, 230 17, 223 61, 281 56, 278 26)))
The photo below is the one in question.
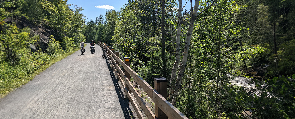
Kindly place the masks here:
POLYGON ((0 2, 0 98, 77 51, 80 41, 85 41, 82 8, 69 6, 63 0, 0 2), (45 32, 42 28, 52 34, 37 34, 45 32))

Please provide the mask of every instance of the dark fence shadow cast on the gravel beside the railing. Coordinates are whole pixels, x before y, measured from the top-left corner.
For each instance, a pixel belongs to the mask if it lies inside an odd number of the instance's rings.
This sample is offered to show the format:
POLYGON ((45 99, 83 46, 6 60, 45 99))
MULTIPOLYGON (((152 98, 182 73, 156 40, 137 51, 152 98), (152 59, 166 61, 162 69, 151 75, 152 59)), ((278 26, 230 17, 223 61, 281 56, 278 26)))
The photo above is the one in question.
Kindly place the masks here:
POLYGON ((122 108, 122 111, 123 111, 123 114, 124 114, 125 119, 131 119, 131 117, 134 118, 133 114, 132 113, 129 113, 129 111, 130 112, 132 111, 130 109, 130 107, 129 107, 129 100, 128 100, 128 98, 125 98, 124 97, 124 94, 123 94, 123 92, 121 90, 121 87, 120 87, 120 85, 118 83, 119 80, 114 75, 114 72, 113 72, 112 68, 110 67, 110 63, 108 62, 108 59, 107 58, 105 58, 105 62, 108 65, 108 68, 109 68, 109 71, 110 71, 110 76, 112 77, 113 84, 114 84, 114 87, 116 89, 117 96, 119 98, 120 105, 121 105, 121 108, 122 108), (131 117, 130 117, 129 114, 131 115, 131 117))

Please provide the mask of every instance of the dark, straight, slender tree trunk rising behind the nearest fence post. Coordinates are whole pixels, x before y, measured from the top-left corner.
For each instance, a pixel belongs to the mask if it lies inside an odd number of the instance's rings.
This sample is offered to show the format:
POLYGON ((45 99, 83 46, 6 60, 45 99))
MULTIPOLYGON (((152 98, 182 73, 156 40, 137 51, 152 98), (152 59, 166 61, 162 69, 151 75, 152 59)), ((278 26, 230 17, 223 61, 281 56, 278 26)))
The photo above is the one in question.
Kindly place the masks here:
POLYGON ((162 0, 162 60, 163 60, 163 76, 166 77, 166 53, 165 53, 165 0, 162 0))

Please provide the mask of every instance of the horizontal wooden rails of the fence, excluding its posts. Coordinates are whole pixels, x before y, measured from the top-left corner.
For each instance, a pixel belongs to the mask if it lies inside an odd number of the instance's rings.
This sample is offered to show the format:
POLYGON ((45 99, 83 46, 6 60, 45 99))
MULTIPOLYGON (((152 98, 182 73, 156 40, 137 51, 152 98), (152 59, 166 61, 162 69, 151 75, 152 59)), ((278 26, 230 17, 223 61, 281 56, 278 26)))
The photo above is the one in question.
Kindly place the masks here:
POLYGON ((133 102, 134 100, 130 92, 136 98, 138 104, 147 115, 147 118, 155 119, 157 117, 155 117, 151 109, 148 108, 147 104, 143 101, 143 98, 138 94, 134 86, 126 78, 124 72, 121 70, 120 66, 116 64, 115 61, 119 62, 119 64, 125 69, 125 71, 127 71, 130 74, 130 76, 133 77, 133 79, 143 88, 143 90, 147 93, 147 95, 152 98, 152 100, 155 102, 155 105, 157 105, 170 119, 188 119, 187 117, 185 117, 184 114, 182 114, 178 109, 176 109, 171 103, 169 103, 168 100, 166 100, 161 94, 159 94, 155 89, 153 89, 145 80, 143 80, 143 78, 141 78, 135 71, 133 71, 129 66, 127 66, 118 56, 116 56, 115 53, 111 51, 110 47, 107 47, 107 45, 101 42, 98 42, 98 44, 101 47, 107 49, 108 51, 107 57, 109 58, 111 62, 111 66, 113 70, 116 72, 116 76, 120 80, 121 84, 123 85, 124 91, 127 97, 129 98, 133 108, 135 109, 135 112, 137 113, 138 118, 143 118, 142 113, 139 111, 138 106, 133 102), (125 81, 125 83, 123 83, 123 80, 125 81))

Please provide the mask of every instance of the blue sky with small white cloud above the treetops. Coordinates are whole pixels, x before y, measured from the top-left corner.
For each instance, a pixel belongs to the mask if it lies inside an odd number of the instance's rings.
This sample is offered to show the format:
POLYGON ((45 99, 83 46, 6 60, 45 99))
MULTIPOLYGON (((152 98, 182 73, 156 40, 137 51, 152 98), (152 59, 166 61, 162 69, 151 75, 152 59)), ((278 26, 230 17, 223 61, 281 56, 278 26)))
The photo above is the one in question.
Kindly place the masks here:
MULTIPOLYGON (((86 16, 87 20, 93 21, 96 20, 96 17, 99 17, 101 14, 105 17, 106 10, 115 10, 118 11, 121 7, 124 7, 125 3, 128 0, 68 0, 67 4, 75 4, 77 6, 82 7, 84 10, 81 12, 84 16, 86 16)), ((178 1, 176 1, 178 3, 178 1)), ((185 5, 185 2, 188 2, 185 6, 185 9, 190 9, 190 2, 189 1, 182 1, 182 6, 185 5)), ((194 4, 194 1, 193 1, 194 4)), ((74 6, 72 6, 73 8, 74 6)))

